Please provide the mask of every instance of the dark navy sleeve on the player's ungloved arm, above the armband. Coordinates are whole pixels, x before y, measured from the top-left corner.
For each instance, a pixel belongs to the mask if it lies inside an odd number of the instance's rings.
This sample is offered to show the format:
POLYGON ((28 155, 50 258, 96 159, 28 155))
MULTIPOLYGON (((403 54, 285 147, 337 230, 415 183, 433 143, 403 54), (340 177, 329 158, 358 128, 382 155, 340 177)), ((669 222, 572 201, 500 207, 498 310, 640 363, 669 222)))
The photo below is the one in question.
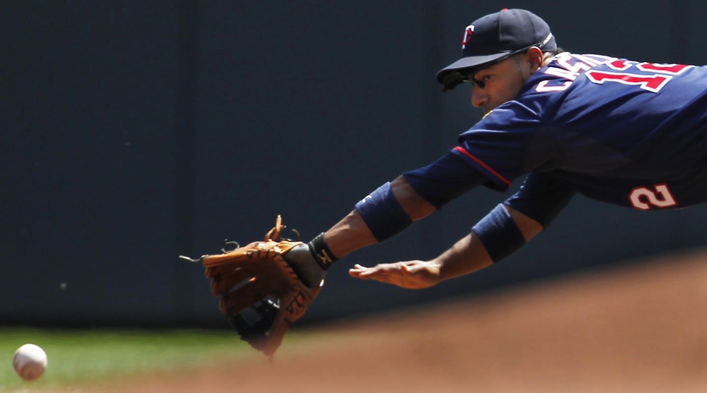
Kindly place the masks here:
POLYGON ((575 189, 558 177, 534 172, 525 178, 520 190, 503 203, 547 228, 575 194, 575 189))

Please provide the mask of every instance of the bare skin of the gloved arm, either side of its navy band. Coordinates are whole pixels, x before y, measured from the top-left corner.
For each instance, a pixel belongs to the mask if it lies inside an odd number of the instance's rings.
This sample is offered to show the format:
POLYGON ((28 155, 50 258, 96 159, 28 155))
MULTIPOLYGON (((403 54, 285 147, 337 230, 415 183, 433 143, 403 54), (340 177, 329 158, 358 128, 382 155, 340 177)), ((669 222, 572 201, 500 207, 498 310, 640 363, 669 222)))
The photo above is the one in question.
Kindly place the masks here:
MULTIPOLYGON (((422 199, 404 177, 399 176, 390 182, 390 188, 411 221, 420 220, 435 211, 435 207, 422 199)), ((329 250, 338 258, 378 242, 356 210, 327 230, 324 236, 329 250)))

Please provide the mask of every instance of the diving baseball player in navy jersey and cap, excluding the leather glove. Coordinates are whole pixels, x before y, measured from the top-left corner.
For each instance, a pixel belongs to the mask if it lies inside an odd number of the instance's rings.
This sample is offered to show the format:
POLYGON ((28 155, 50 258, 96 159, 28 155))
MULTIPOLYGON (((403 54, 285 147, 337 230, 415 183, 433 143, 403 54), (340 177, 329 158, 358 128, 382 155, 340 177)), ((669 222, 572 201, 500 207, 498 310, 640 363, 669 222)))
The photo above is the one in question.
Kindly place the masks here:
MULTIPOLYGON (((443 91, 467 83, 484 117, 435 162, 382 184, 310 242, 276 252, 306 288, 318 288, 337 259, 464 192, 503 192, 524 175, 520 191, 438 257, 356 264, 349 274, 426 288, 472 273, 542 232, 576 193, 641 210, 707 200, 707 66, 564 52, 542 18, 504 9, 465 28, 462 58, 437 80, 443 91)), ((297 310, 288 324, 314 295, 298 290, 288 300, 297 310)), ((235 314, 243 303, 222 309, 235 314)))

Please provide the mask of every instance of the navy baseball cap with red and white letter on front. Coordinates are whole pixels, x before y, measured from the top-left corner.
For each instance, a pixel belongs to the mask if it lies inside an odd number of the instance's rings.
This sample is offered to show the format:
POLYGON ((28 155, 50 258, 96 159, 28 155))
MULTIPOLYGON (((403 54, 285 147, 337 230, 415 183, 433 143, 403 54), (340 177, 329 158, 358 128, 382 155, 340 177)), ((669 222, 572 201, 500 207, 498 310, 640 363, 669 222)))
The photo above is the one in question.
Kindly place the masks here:
MULTIPOLYGON (((492 64, 533 46, 543 50, 557 49, 550 26, 534 13, 518 8, 504 8, 497 13, 482 16, 464 30, 462 58, 441 69, 437 73, 437 81, 446 88, 448 83, 445 83, 445 79, 449 82, 455 79, 450 78, 453 74, 460 76, 461 69, 492 64)), ((449 88, 461 81, 452 81, 449 88)))

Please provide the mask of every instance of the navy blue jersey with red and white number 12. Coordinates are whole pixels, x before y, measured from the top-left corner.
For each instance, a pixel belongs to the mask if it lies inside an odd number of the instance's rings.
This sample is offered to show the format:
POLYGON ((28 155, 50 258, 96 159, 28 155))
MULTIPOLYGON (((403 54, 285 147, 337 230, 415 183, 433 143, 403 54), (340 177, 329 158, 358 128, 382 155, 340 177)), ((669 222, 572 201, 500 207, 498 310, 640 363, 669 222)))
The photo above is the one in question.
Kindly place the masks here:
MULTIPOLYGON (((532 210, 580 192, 636 209, 707 201, 707 66, 562 53, 459 139, 452 153, 532 210), (534 177, 538 177, 537 181, 534 177)), ((547 216, 555 207, 533 216, 547 216)))

